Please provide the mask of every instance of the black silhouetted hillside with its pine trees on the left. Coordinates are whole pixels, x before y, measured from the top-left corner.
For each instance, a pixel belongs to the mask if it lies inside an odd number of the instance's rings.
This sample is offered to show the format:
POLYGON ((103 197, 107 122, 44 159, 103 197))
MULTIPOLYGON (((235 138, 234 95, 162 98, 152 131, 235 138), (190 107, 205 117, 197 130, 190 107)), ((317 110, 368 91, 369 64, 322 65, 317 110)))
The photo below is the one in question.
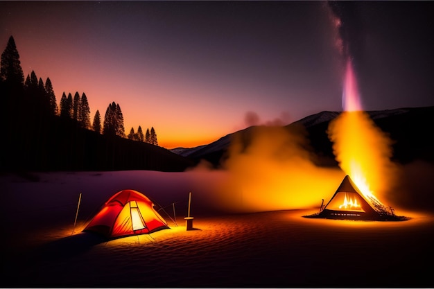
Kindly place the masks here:
POLYGON ((91 123, 86 94, 62 94, 60 104, 50 78, 32 71, 24 80, 15 40, 1 54, 0 94, 6 123, 1 150, 3 170, 183 170, 189 160, 158 147, 151 128, 125 136, 119 103, 110 103, 103 125, 97 110, 91 123))

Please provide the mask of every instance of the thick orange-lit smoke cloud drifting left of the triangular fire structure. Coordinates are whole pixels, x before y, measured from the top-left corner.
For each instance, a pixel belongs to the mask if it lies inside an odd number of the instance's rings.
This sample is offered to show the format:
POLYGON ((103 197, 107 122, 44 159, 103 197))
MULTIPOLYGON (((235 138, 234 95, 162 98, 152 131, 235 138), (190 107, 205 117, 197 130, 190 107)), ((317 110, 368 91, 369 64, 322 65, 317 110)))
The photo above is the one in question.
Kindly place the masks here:
POLYGON ((236 212, 319 208, 344 175, 315 166, 311 157, 302 127, 250 128, 232 140, 223 164, 231 190, 220 192, 218 202, 236 212))

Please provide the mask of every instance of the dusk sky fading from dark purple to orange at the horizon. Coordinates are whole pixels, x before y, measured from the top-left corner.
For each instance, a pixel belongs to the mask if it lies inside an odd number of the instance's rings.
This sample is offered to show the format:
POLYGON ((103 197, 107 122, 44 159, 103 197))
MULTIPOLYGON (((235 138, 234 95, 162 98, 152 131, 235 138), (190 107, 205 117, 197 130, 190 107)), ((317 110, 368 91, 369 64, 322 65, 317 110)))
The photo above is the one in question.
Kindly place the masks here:
POLYGON ((93 120, 192 147, 342 110, 351 58, 365 110, 434 105, 432 1, 0 1, 0 47, 93 120), (340 19, 340 26, 338 21, 340 19))

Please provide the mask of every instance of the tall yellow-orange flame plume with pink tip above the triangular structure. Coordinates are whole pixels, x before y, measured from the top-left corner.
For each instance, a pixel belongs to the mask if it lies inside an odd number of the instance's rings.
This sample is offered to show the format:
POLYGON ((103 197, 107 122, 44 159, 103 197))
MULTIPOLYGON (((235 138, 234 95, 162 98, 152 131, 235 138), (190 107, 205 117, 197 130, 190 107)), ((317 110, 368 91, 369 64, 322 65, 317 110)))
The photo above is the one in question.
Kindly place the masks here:
POLYGON ((379 202, 374 192, 384 193, 394 175, 392 141, 362 110, 351 60, 347 61, 342 105, 345 111, 331 121, 328 130, 334 155, 363 195, 379 202))

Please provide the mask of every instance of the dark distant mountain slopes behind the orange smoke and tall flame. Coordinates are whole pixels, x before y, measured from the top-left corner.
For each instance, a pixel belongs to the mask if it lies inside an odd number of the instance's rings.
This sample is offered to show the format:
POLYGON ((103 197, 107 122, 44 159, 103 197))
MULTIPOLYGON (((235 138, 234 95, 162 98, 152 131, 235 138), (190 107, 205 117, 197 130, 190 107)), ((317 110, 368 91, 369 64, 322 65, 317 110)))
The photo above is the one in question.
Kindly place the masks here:
MULTIPOLYGON (((394 160, 405 163, 414 159, 425 159, 434 162, 434 107, 408 107, 367 113, 374 123, 394 140, 394 160)), ((286 128, 300 124, 304 126, 308 133, 310 149, 317 155, 315 161, 320 166, 337 165, 327 128, 330 121, 339 114, 340 112, 319 112, 286 125, 286 128)), ((227 134, 206 146, 184 149, 182 153, 196 162, 205 159, 218 167, 232 137, 241 134, 242 138, 246 139, 251 128, 227 134)))

